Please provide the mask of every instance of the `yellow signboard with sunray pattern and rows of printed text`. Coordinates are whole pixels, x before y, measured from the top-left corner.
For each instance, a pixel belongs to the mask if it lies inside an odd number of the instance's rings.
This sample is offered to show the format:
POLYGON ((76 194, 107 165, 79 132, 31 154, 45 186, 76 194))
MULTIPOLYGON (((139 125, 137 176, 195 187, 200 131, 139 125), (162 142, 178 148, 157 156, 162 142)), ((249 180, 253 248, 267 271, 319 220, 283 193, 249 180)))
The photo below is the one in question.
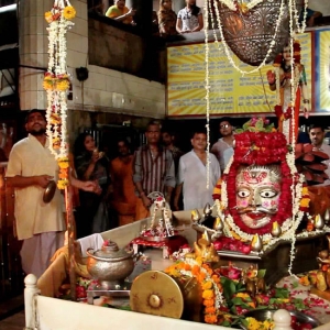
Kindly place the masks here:
MULTIPOLYGON (((305 65, 311 95, 312 34, 298 35, 301 63, 305 65)), ((235 64, 245 72, 249 66, 232 54, 235 64)), ((242 75, 229 63, 221 43, 209 44, 210 114, 270 113, 276 103, 266 78, 272 65, 256 73, 242 75)), ((205 44, 167 48, 167 112, 169 117, 206 114, 205 44)), ((310 98, 311 99, 311 98, 310 98)))

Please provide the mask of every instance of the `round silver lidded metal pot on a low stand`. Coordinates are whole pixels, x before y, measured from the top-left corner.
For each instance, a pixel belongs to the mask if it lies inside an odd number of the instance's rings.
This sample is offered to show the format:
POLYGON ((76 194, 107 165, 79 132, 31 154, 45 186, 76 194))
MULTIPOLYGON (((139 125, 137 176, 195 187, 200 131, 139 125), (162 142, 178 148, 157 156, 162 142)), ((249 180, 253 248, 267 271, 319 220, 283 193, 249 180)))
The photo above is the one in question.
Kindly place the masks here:
POLYGON ((128 253, 119 250, 114 242, 111 242, 109 246, 102 246, 101 250, 88 249, 86 253, 89 274, 106 289, 122 285, 134 270, 133 251, 128 253))

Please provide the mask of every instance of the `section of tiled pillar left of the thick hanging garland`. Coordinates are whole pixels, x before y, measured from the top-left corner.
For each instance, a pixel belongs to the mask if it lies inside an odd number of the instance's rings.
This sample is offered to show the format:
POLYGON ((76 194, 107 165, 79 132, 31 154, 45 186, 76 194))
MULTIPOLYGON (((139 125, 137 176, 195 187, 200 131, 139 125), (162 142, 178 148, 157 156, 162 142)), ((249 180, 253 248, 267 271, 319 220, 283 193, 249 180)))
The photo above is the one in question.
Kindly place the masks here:
POLYGON ((43 77, 48 63, 48 42, 44 13, 52 8, 53 1, 24 0, 19 6, 20 107, 21 110, 46 109, 43 77))

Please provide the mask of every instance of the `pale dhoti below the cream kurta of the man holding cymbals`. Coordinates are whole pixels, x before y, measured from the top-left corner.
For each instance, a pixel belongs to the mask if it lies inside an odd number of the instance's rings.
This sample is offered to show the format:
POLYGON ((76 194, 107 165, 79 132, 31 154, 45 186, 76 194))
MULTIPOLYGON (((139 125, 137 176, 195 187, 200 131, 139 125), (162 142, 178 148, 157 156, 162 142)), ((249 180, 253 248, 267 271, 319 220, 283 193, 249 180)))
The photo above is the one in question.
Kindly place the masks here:
POLYGON ((24 273, 40 277, 63 242, 64 232, 45 232, 24 240, 20 252, 24 273))

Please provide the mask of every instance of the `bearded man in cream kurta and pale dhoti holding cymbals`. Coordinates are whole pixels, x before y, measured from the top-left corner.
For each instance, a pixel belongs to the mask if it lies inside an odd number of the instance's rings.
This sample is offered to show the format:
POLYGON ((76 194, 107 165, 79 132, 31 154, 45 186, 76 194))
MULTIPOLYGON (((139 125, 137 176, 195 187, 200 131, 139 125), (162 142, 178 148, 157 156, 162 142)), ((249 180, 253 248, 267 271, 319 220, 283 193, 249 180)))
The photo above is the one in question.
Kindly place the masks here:
POLYGON ((44 113, 32 110, 26 117, 29 136, 12 148, 7 180, 15 188, 15 227, 24 240, 21 258, 23 271, 41 276, 55 251, 63 246, 65 222, 62 197, 56 189, 51 202, 43 201, 50 179, 57 178, 58 166, 48 150, 44 113))

